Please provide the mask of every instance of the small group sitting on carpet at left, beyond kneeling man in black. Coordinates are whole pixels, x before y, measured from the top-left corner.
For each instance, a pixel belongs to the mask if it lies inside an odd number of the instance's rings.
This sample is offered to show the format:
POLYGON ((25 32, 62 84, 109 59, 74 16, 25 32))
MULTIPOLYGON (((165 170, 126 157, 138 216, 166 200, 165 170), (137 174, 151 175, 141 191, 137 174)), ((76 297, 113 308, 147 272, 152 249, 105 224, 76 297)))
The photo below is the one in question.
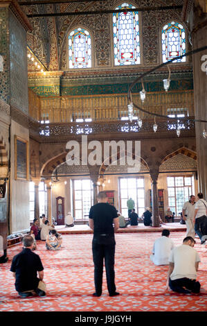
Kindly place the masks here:
POLYGON ((60 250, 62 244, 61 235, 55 230, 55 226, 50 225, 48 219, 43 214, 33 220, 33 225, 30 228, 30 236, 33 237, 33 250, 37 249, 36 240, 46 241, 46 249, 60 250))

